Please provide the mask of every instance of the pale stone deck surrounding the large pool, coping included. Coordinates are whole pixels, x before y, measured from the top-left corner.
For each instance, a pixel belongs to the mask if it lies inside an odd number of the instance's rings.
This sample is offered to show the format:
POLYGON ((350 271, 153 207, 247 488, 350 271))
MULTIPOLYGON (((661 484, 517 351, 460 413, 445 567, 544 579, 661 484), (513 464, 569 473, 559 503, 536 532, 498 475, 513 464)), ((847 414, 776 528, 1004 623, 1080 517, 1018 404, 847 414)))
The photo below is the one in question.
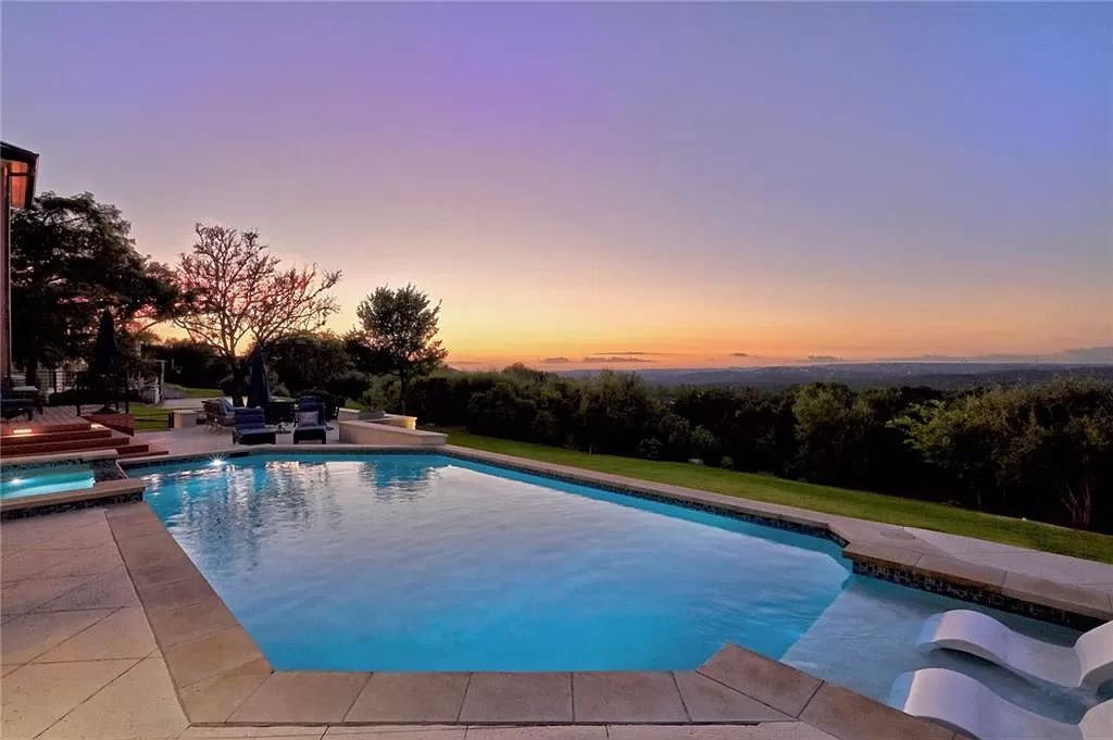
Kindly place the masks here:
MULTIPOLYGON (((190 444, 167 445, 171 453, 232 448, 220 435, 189 432, 183 441, 190 444)), ((322 447, 297 448, 313 450, 322 447)), ((1045 616, 1113 614, 1113 566, 1100 563, 504 455, 444 452, 823 530, 863 568, 926 579, 920 586, 1032 600, 1045 616)), ((696 671, 276 672, 145 503, 4 522, 0 552, 3 738, 955 737, 732 645, 696 671)))

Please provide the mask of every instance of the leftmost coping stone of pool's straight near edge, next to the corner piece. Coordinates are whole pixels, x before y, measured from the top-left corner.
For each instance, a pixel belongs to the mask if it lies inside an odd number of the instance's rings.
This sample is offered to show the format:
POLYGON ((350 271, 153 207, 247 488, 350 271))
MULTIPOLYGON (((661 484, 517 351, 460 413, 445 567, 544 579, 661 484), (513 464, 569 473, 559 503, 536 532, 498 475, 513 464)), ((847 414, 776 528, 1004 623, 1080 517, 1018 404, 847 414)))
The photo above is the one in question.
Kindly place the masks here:
POLYGON ((367 673, 274 673, 229 718, 233 722, 328 724, 344 719, 367 673))

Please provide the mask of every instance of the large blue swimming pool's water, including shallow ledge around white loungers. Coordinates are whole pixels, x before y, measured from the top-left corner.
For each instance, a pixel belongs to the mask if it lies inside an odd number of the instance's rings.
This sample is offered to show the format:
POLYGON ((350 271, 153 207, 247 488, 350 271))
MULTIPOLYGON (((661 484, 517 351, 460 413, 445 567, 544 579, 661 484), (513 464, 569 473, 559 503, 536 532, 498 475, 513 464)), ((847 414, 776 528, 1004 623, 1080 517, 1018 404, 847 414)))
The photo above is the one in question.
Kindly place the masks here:
POLYGON ((917 653, 928 615, 969 604, 855 575, 806 534, 435 454, 129 474, 278 669, 677 670, 735 642, 881 700, 940 665, 1065 720, 1089 702, 917 653))

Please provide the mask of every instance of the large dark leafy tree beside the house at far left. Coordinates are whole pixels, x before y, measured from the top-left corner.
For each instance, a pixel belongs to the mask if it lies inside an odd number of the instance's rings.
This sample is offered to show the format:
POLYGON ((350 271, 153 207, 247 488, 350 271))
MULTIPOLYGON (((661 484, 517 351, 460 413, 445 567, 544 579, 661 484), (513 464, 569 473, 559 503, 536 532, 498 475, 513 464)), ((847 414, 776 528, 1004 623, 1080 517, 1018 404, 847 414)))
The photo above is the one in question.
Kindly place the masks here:
POLYGON ((89 356, 105 310, 126 334, 180 309, 168 268, 136 251, 130 231, 118 208, 89 193, 45 193, 13 211, 12 355, 28 376, 40 363, 89 356))

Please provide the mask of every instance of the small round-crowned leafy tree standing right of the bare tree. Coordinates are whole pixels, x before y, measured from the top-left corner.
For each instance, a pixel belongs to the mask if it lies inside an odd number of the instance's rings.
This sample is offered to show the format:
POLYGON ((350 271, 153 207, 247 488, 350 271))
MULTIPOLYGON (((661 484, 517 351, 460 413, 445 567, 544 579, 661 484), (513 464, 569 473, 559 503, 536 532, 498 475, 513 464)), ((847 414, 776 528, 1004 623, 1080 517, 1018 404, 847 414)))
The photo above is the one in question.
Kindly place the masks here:
POLYGON ((346 336, 356 367, 397 378, 403 414, 410 384, 441 367, 449 355, 436 338, 440 314, 441 304, 432 305, 416 286, 383 286, 359 304, 359 325, 346 336))

